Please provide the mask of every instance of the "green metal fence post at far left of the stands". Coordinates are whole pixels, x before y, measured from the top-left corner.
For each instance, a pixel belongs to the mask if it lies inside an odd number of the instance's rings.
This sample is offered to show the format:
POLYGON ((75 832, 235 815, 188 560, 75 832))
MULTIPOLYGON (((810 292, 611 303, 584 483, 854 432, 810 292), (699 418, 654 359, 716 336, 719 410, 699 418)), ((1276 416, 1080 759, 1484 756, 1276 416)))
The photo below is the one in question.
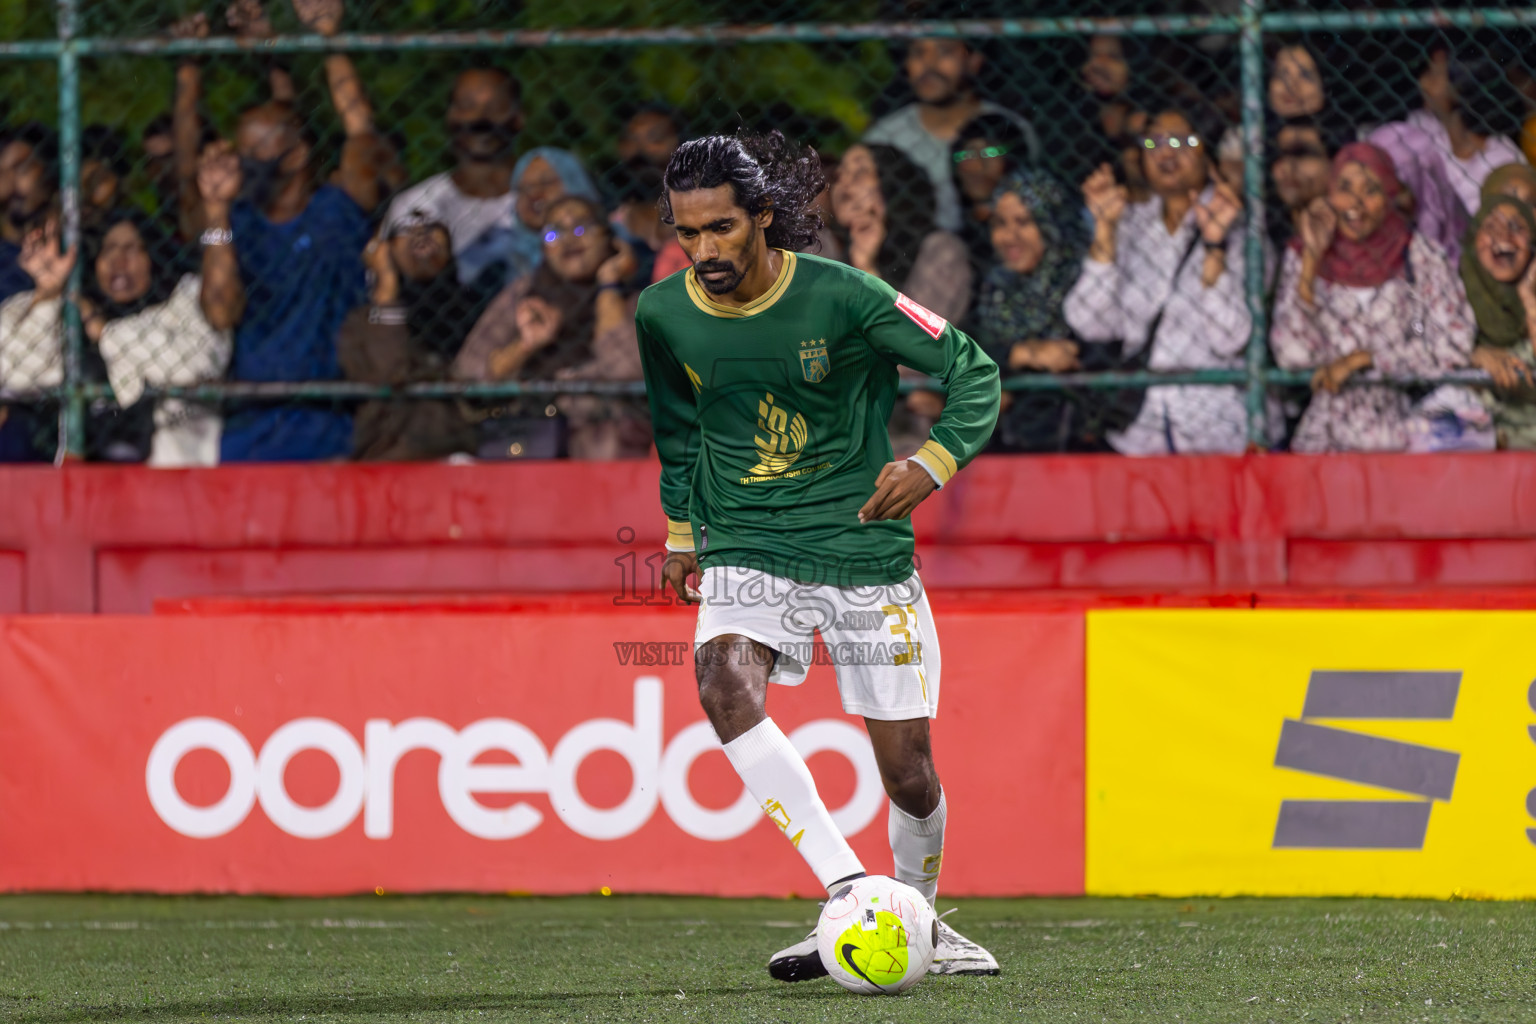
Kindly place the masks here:
MULTIPOLYGON (((80 244, 80 57, 74 45, 75 0, 58 0, 58 195, 65 249, 80 244)), ((78 249, 77 249, 78 252, 78 249)), ((69 275, 65 302, 65 387, 60 396, 60 454, 83 457, 86 450, 84 332, 80 307, 80 261, 69 275)))

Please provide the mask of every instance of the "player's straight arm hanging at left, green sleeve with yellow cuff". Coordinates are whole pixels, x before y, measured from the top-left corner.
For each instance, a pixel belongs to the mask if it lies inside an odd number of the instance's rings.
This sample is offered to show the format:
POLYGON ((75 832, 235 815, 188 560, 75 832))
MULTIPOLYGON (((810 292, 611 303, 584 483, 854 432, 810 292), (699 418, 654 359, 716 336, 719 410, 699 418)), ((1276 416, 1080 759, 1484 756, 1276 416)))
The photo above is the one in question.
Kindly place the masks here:
MULTIPOLYGON (((641 342, 641 368, 645 375, 645 401, 651 407, 651 433, 656 438, 656 454, 662 461, 662 511, 667 513, 667 550, 673 554, 693 556, 693 525, 688 520, 688 493, 693 485, 693 468, 699 462, 699 387, 690 378, 687 367, 677 362, 664 342, 645 329, 645 295, 634 312, 634 333, 641 342)), ((696 600, 687 588, 687 577, 697 571, 693 563, 679 579, 673 579, 671 562, 664 576, 682 600, 696 600)))

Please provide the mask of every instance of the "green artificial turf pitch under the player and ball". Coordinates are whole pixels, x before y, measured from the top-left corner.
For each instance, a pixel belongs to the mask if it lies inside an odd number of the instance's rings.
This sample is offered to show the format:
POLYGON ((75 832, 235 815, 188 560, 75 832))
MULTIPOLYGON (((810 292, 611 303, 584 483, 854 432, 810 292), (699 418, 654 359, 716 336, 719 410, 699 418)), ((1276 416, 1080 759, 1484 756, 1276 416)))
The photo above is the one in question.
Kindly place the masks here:
POLYGON ((768 978, 805 901, 0 897, 0 1019, 1536 1021, 1536 904, 960 907, 1003 973, 869 998, 768 978))

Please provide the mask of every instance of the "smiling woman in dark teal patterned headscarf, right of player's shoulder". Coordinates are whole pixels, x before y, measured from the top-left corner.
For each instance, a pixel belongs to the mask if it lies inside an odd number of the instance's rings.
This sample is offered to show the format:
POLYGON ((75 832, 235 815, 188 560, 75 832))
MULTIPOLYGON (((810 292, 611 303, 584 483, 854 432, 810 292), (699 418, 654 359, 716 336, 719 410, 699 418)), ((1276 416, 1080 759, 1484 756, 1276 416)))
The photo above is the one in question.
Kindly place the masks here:
MULTIPOLYGON (((991 201, 995 266, 982 281, 971 325, 1005 375, 1078 368, 1080 348, 1061 304, 1087 252, 1087 223, 1068 190, 1044 170, 1026 167, 998 186, 991 201)), ((1078 395, 1005 391, 997 445, 1005 451, 1069 451, 1092 447, 1078 395)))

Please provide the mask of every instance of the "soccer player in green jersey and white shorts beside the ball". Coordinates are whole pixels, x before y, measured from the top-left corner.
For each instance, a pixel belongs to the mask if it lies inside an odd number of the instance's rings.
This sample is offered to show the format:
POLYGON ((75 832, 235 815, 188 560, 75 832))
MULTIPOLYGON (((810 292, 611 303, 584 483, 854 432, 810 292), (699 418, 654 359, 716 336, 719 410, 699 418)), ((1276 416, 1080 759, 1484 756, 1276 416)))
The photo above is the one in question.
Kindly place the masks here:
MULTIPOLYGON (((693 266, 641 293, 636 325, 662 461, 662 573, 679 597, 702 600, 699 700, 746 789, 828 892, 863 875, 766 714, 768 683, 803 682, 820 629, 891 797, 895 877, 932 901, 945 846, 928 737, 938 640, 908 516, 986 444, 997 365, 879 278, 796 252, 817 236, 825 180, 816 154, 779 132, 684 143, 662 186, 662 215, 693 266), (929 441, 903 462, 886 434, 897 364, 948 391, 929 441)), ((929 970, 991 975, 997 961, 940 923, 929 970)), ((768 972, 825 975, 814 932, 768 972)))

